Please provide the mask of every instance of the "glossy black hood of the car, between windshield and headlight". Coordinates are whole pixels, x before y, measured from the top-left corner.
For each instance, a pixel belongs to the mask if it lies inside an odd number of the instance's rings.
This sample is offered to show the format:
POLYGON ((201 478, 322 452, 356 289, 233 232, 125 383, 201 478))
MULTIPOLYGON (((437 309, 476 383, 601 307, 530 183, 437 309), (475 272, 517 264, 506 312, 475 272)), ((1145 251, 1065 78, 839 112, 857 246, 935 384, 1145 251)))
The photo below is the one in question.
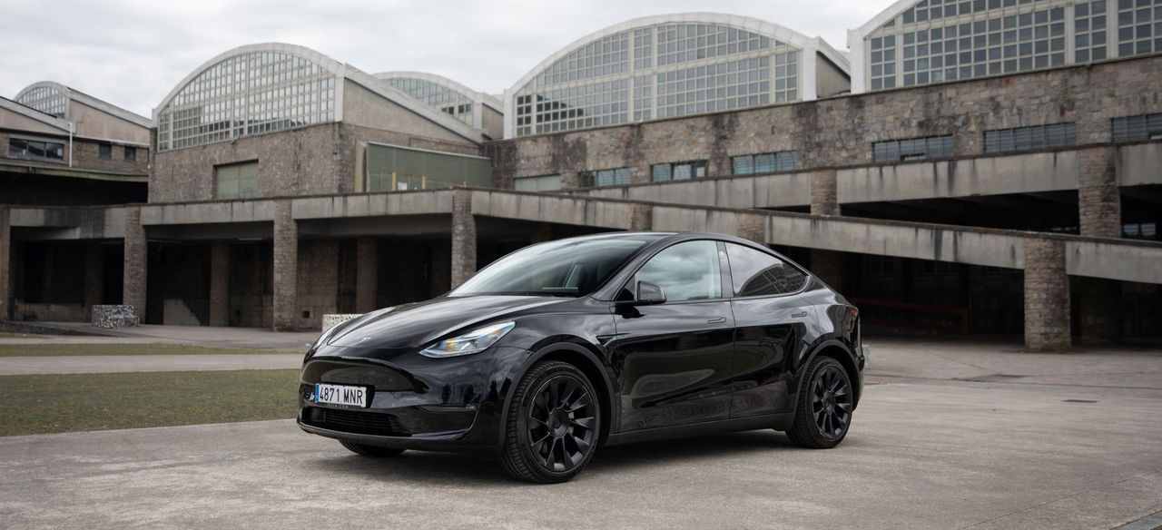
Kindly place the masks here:
POLYGON ((337 331, 329 346, 401 349, 426 346, 456 331, 472 331, 505 315, 571 299, 548 296, 445 296, 397 306, 337 331))

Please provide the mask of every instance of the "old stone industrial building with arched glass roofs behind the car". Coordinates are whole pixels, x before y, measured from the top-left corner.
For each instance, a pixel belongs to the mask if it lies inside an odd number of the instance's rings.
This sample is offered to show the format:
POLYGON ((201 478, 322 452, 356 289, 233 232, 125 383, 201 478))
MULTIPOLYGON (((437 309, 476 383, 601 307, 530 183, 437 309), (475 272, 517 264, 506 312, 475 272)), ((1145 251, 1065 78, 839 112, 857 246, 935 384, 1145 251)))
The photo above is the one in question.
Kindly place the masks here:
POLYGON ((654 229, 773 245, 885 329, 1033 350, 1157 336, 1162 2, 1122 3, 901 1, 849 52, 756 19, 650 16, 502 98, 238 48, 155 109, 146 203, 0 199, 0 317, 103 302, 317 329, 530 242, 654 229), (119 259, 35 258, 92 248, 119 259))

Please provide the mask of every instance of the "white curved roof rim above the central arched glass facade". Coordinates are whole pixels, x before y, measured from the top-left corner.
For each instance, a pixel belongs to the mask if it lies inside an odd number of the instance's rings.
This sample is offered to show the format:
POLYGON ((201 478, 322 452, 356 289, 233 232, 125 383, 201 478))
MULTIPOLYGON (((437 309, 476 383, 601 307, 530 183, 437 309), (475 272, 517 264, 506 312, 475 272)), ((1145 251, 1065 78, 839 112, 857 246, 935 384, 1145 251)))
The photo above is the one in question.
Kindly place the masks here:
POLYGON ((753 31, 756 34, 775 38, 777 41, 782 41, 795 48, 824 53, 827 57, 827 59, 830 59, 832 63, 835 63, 837 66, 844 70, 847 70, 848 67, 847 57, 844 56, 842 53, 839 53, 830 45, 826 45, 826 43, 824 43, 824 45, 820 46, 819 44, 823 43, 823 41, 819 40, 818 37, 815 38, 808 37, 806 35, 803 35, 792 29, 784 28, 774 22, 768 22, 751 16, 730 15, 724 13, 674 13, 668 15, 652 15, 652 16, 643 16, 639 19, 627 20, 625 22, 610 26, 605 29, 601 29, 589 35, 586 35, 581 38, 578 38, 576 41, 573 41, 565 48, 558 50, 555 53, 545 58, 545 60, 541 60, 539 64, 537 64, 537 66, 535 66, 532 70, 525 73, 524 77, 517 80, 516 84, 512 85, 510 91, 516 92, 519 91, 521 88, 524 88, 525 85, 531 83, 533 79, 537 78, 538 74, 540 74, 546 69, 552 66, 553 63, 557 63, 558 60, 568 56, 569 53, 581 48, 584 48, 586 45, 588 45, 594 41, 600 41, 604 37, 617 35, 629 29, 670 23, 670 22, 696 22, 705 24, 727 26, 736 29, 753 31))

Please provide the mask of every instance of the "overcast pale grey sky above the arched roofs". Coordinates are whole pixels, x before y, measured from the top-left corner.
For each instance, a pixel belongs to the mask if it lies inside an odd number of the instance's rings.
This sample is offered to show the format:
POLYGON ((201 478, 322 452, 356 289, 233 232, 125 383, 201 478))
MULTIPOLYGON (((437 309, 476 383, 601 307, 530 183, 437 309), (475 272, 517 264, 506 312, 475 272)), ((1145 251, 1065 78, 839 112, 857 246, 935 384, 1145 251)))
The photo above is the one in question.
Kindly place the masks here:
POLYGON ((209 58, 257 42, 318 50, 365 72, 418 70, 498 94, 561 46, 615 23, 664 13, 769 20, 847 49, 892 0, 192 0, 6 1, 0 95, 41 80, 150 116, 209 58))

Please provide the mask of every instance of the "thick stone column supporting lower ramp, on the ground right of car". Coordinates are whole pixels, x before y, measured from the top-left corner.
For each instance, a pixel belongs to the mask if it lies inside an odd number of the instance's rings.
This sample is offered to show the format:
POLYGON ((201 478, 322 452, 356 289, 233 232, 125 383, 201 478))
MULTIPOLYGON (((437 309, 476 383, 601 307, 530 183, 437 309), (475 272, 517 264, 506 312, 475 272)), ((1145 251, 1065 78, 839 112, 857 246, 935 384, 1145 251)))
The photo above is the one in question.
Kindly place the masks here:
POLYGON ((1066 244, 1056 239, 1025 241, 1025 349, 1068 350, 1069 275, 1066 244))

